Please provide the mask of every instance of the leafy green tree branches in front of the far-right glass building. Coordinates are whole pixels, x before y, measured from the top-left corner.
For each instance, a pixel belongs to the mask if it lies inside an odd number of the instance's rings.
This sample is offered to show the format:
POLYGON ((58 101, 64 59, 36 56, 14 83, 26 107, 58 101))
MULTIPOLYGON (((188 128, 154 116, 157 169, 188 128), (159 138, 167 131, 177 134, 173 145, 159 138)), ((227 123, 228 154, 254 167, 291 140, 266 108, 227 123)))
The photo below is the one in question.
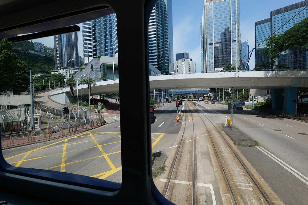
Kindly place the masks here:
POLYGON ((292 49, 307 50, 308 47, 308 18, 295 24, 285 33, 270 36, 266 42, 267 48, 263 54, 272 59, 278 59, 282 52, 292 49))

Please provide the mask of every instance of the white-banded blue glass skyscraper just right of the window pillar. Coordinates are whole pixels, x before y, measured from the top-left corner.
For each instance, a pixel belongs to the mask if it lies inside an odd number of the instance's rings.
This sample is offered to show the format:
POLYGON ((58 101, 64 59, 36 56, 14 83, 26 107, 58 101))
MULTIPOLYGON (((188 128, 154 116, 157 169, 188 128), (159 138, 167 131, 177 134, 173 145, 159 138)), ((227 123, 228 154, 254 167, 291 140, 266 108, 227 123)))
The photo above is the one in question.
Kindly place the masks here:
POLYGON ((161 73, 174 72, 172 1, 158 0, 149 21, 149 61, 161 73))

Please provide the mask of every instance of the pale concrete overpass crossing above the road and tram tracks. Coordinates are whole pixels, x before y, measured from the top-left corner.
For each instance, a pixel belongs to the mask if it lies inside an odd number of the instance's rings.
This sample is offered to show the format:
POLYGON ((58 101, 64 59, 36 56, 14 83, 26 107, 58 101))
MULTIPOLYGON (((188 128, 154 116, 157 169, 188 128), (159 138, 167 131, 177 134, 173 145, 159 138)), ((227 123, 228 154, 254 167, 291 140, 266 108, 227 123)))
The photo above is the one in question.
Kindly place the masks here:
MULTIPOLYGON (((138 80, 138 79, 132 79, 138 80)), ((130 86, 130 85, 127 85, 130 86)), ((290 102, 296 99, 297 91, 308 92, 308 71, 239 71, 195 74, 168 74, 150 76, 150 89, 176 88, 247 88, 272 90, 273 109, 282 108, 281 91, 284 90, 284 108, 295 112, 290 102), (291 100, 292 99, 292 100, 291 100), (289 105, 290 104, 290 105, 289 105)), ((132 87, 132 90, 134 88, 132 87)), ((78 86, 79 96, 87 96, 87 85, 78 86)), ((119 80, 99 81, 91 88, 93 95, 119 92, 119 80)), ((77 87, 74 88, 77 96, 77 87)), ((50 94, 55 101, 74 102, 71 90, 64 88, 50 94)))

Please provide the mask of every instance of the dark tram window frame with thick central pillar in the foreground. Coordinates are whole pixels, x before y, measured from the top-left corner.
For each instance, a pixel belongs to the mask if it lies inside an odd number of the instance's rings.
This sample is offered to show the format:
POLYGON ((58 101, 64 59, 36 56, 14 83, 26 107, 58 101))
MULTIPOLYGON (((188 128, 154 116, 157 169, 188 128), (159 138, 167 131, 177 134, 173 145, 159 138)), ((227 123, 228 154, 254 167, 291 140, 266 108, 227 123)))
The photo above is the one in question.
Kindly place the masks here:
MULTIPOLYGON (((70 3, 69 0, 64 0, 64 4, 70 3)), ((10 2, 11 3, 11 2, 10 2)), ((17 0, 13 3, 17 3, 17 0)), ((20 3, 20 2, 19 2, 20 3)), ((72 16, 78 16, 80 14, 89 14, 91 15, 92 13, 95 14, 95 12, 98 12, 98 8, 101 8, 104 6, 105 9, 114 9, 114 13, 117 13, 117 21, 118 21, 118 36, 119 37, 119 50, 123 49, 123 46, 126 46, 125 44, 121 44, 122 40, 123 42, 132 42, 134 41, 136 43, 135 48, 132 50, 135 50, 136 56, 139 55, 139 60, 140 62, 136 61, 136 68, 137 70, 139 69, 140 73, 136 74, 138 77, 140 77, 140 81, 135 81, 133 84, 135 85, 140 85, 137 88, 137 91, 141 91, 141 96, 143 96, 143 105, 136 107, 134 112, 137 112, 137 115, 139 115, 140 122, 137 123, 137 127, 140 129, 138 135, 134 135, 135 137, 135 147, 138 152, 138 159, 141 161, 134 162, 131 165, 128 165, 128 162, 126 162, 123 159, 122 155, 122 185, 120 189, 112 189, 112 187, 107 187, 106 182, 104 186, 95 187, 93 185, 88 185, 88 184, 81 184, 80 180, 83 178, 86 178, 85 176, 78 175, 76 177, 75 175, 71 175, 68 173, 63 173, 63 172, 57 172, 55 174, 52 171, 47 171, 47 170, 38 170, 38 169, 31 169, 31 168, 21 168, 21 167, 13 167, 9 165, 5 159, 3 158, 2 152, 0 155, 0 180, 2 183, 6 184, 6 188, 9 188, 11 190, 14 190, 15 193, 20 193, 23 191, 23 195, 26 194, 32 194, 31 193, 33 190, 25 190, 25 187, 35 187, 38 193, 44 193, 45 195, 40 196, 40 198, 44 200, 59 200, 59 199, 65 199, 63 202, 69 202, 73 204, 74 202, 78 201, 78 199, 83 199, 82 197, 89 197, 92 196, 92 198, 87 198, 89 200, 88 202, 101 202, 101 199, 104 198, 105 203, 128 203, 128 200, 130 201, 139 201, 139 203, 157 203, 157 204, 173 204, 170 201, 168 201, 166 198, 164 198, 163 195, 158 191, 156 188, 153 179, 152 179, 152 169, 151 169, 151 152, 152 152, 152 147, 151 147, 151 125, 150 125, 150 114, 148 112, 149 107, 150 107, 150 101, 149 101, 149 52, 148 52, 148 23, 149 23, 149 17, 152 11, 152 8, 154 7, 156 3, 156 0, 145 0, 145 2, 140 2, 139 0, 131 0, 127 2, 126 0, 100 0, 100 1, 95 1, 95 2, 75 2, 76 5, 74 8, 72 8, 72 13, 67 13, 67 10, 62 10, 58 11, 55 16, 51 16, 52 11, 50 13, 46 14, 44 13, 43 15, 46 16, 46 18, 42 17, 35 17, 30 19, 30 17, 27 17, 26 20, 21 20, 19 22, 9 22, 7 23, 7 27, 4 29, 1 29, 0 26, 0 38, 3 37, 3 32, 8 31, 7 34, 16 34, 17 30, 27 30, 33 32, 37 32, 38 30, 47 30, 46 28, 48 27, 48 23, 52 22, 51 25, 55 26, 55 22, 61 21, 61 25, 65 25, 66 22, 71 22, 72 16), (144 4, 143 4, 144 3, 144 4), (80 7, 83 6, 83 4, 87 5, 85 6, 87 9, 86 10, 81 10, 80 7), (106 7, 109 6, 108 8, 106 7), (91 7, 92 6, 92 7, 91 7), (117 12, 117 10, 119 12, 117 12), (122 14, 123 13, 123 14, 122 14), (125 14, 131 13, 131 16, 126 16, 124 20, 125 14), (48 16, 49 15, 49 16, 48 16), (142 16, 143 15, 143 16, 142 16), (137 19, 134 19, 137 18, 137 19), (131 20, 136 20, 129 22, 130 24, 125 25, 122 24, 123 22, 127 22, 129 19, 131 20), (141 28, 141 34, 142 35, 137 35, 137 36, 130 36, 126 37, 126 39, 121 39, 121 37, 124 37, 125 35, 128 35, 126 32, 130 30, 131 24, 133 27, 136 29, 136 31, 140 31, 140 23, 136 22, 141 22, 143 21, 143 28, 141 28), (38 26, 35 26, 34 24, 40 23, 40 28, 38 26), (28 26, 28 27, 27 27, 28 26), (23 28, 25 28, 23 30, 23 28), (120 28, 120 29, 119 29, 120 28), (139 28, 139 30, 137 30, 139 28), (1 36, 2 32, 2 36, 1 36), (142 38, 140 38, 142 37, 142 38), (129 38, 129 41, 128 41, 129 38), (145 50, 140 51, 141 46, 144 47, 145 50), (138 68, 139 67, 139 68, 138 68), (144 89, 145 86, 145 89, 144 89), (141 145, 141 146, 140 146, 141 145), (134 165, 138 165, 135 166, 134 165), (38 175, 35 175, 37 173, 38 175), (136 176, 132 175, 135 174, 136 176), (74 182, 68 183, 68 180, 66 177, 69 177, 69 175, 76 177, 73 179, 74 182), (52 179, 54 178, 53 176, 56 176, 57 179, 52 179), (81 176, 79 178, 79 176, 81 176), (77 179, 78 178, 78 179, 77 179), (78 182, 76 182, 78 181, 78 182), (74 185, 74 186, 72 186, 74 185), (88 189, 90 188, 90 189, 88 189), (48 190, 48 192, 46 192, 48 190), (55 199, 55 195, 57 194, 57 198, 55 199), (64 195, 66 195, 64 197, 64 195), (120 198, 117 198, 119 196, 120 198), (125 196, 130 196, 130 197, 125 197, 125 196), (137 197, 137 198, 134 198, 137 197), (152 196, 152 197, 151 197, 152 196)), ((37 5, 33 5, 34 3, 20 3, 18 4, 19 10, 15 9, 14 6, 17 5, 5 5, 5 9, 9 10, 11 14, 4 14, 5 15, 17 15, 20 10, 23 11, 22 6, 25 6, 25 10, 34 10, 34 7, 37 5), (26 6, 27 5, 27 6, 26 6), (32 6, 32 7, 31 7, 32 6), (10 9, 11 8, 11 9, 10 9), (14 9, 13 9, 14 8, 14 9), (29 9, 30 8, 30 9, 29 9)), ((56 3, 54 3, 52 6, 55 6, 56 3)), ((43 8, 48 8, 49 10, 52 10, 50 7, 44 5, 44 3, 39 4, 39 6, 42 6, 43 8), (43 5, 43 6, 42 6, 43 5), (44 7, 45 6, 45 7, 44 7)), ((73 7, 73 6, 71 6, 73 7)), ((1 9, 0 9, 1 10, 1 9)), ((2 9, 3 10, 3 9, 2 9)), ((52 13, 54 14, 54 13, 52 13)), ((26 14, 24 14, 26 15, 26 14)), ((107 15, 107 14, 106 14, 107 15)), ((18 15, 17 15, 18 16, 18 15)), ((0 16, 0 20, 1 20, 0 16)), ((83 22, 83 21, 82 21, 83 22)), ((80 22, 79 22, 80 23, 80 22)), ((74 23, 76 24, 76 23, 74 23)), ((72 24, 69 24, 72 25, 72 24)), ((69 26, 66 25, 66 26, 69 26)), ((55 27, 53 27, 55 28, 55 27)), ((24 32, 25 33, 25 32, 24 32)), ((30 32, 28 32, 30 33, 30 32)), ((2 39, 2 38, 1 38, 2 39)), ((126 51, 127 49, 123 49, 123 51, 126 51)), ((132 52, 131 52, 132 53, 132 52)), ((124 56, 123 56, 124 57, 124 56)), ((128 58, 128 57, 126 57, 128 58)), ((119 65, 121 63, 125 62, 125 58, 122 59, 119 58, 119 65)), ((129 66, 128 66, 129 67, 129 66)), ((131 66, 132 67, 132 66, 131 66)), ((126 70, 126 69, 125 69, 126 70)), ((119 89, 120 91, 127 89, 127 86, 125 88, 125 85, 121 86, 121 81, 122 82, 129 82, 129 79, 124 80, 125 77, 128 77, 132 74, 129 73, 129 71, 122 71, 122 76, 121 78, 121 71, 119 72, 119 89), (125 77, 124 77, 125 76, 125 77)), ((123 93, 125 96, 126 93, 123 93)), ((129 94, 129 93, 127 93, 129 94)), ((122 96, 123 97, 123 96, 122 96)), ((126 98, 122 98, 122 101, 125 103, 126 98)), ((127 101, 129 98, 127 98, 127 101)), ((121 119, 129 119, 127 114, 131 114, 133 111, 128 111, 128 110, 121 110, 121 119), (123 117, 122 117, 123 116, 123 117)), ((131 150, 131 147, 128 146, 127 143, 130 139, 127 139, 124 135, 128 136, 130 133, 128 133, 129 130, 132 130, 132 128, 128 128, 128 125, 121 125, 121 132, 123 130, 122 134, 122 139, 121 139, 121 145, 122 145, 122 153, 125 150, 126 154, 128 154, 131 150), (125 142, 123 141, 125 140, 125 142)), ((130 142, 129 142, 130 143, 130 142)), ((129 145, 132 145, 130 143, 129 145)), ((126 157, 126 156, 125 156, 126 157)), ((93 179, 93 178, 91 178, 93 179)), ((102 183, 103 180, 100 180, 102 183)), ((0 189, 1 193, 1 189, 0 189)), ((19 197, 22 197, 23 195, 19 195, 19 197)), ((28 195, 29 196, 29 195, 28 195)))

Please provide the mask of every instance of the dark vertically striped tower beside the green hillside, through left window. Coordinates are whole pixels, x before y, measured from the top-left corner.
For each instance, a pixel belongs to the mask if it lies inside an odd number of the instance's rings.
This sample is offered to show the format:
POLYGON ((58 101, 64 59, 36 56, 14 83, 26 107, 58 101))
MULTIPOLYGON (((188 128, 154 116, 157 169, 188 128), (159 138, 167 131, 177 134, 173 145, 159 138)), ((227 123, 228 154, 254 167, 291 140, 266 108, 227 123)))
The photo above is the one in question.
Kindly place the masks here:
POLYGON ((54 36, 55 70, 61 67, 79 67, 77 32, 54 36), (74 59, 74 60, 71 60, 74 59), (67 62, 69 65, 67 65, 67 62))

